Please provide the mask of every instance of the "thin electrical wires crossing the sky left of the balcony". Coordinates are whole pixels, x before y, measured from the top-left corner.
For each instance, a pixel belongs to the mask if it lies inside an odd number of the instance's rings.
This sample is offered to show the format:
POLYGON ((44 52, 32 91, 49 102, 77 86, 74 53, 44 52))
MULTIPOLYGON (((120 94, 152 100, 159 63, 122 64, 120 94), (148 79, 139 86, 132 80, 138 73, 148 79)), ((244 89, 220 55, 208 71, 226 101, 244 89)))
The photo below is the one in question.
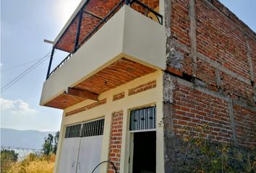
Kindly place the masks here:
POLYGON ((19 74, 18 76, 16 76, 14 79, 12 79, 12 81, 9 81, 6 85, 4 85, 3 87, 1 87, 1 92, 4 92, 6 89, 8 89, 10 86, 12 86, 13 84, 15 84, 17 81, 19 81, 20 79, 22 79, 22 77, 24 77, 25 75, 27 75, 28 73, 30 73, 30 71, 33 71, 33 69, 35 69, 37 66, 39 66, 41 63, 43 63, 44 61, 46 61, 48 58, 50 58, 50 53, 48 52, 46 54, 46 56, 43 56, 43 58, 40 58, 40 60, 38 60, 36 63, 34 63, 32 66, 30 66, 29 68, 27 68, 25 71, 23 71, 21 74, 19 74))

